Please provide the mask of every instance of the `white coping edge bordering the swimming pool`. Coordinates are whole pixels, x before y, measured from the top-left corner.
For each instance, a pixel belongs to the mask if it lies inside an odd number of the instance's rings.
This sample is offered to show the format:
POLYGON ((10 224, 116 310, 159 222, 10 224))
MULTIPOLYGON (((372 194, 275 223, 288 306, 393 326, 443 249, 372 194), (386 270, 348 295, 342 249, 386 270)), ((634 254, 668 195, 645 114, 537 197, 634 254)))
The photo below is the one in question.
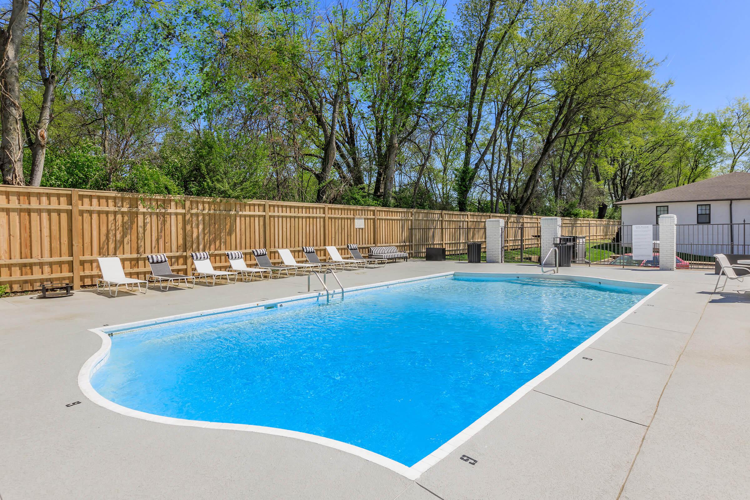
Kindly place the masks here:
MULTIPOLYGON (((667 286, 661 283, 642 283, 642 282, 637 283, 637 282, 625 281, 625 280, 610 280, 610 279, 591 277, 591 276, 572 276, 572 275, 565 275, 565 274, 474 273, 474 272, 450 271, 446 273, 429 274, 427 276, 407 278, 404 280, 393 280, 393 281, 388 281, 384 283, 374 283, 374 284, 364 285, 364 286, 355 286, 352 288, 344 289, 343 293, 344 295, 346 295, 347 293, 359 292, 362 290, 374 289, 374 288, 384 288, 384 287, 396 285, 399 283, 411 283, 411 282, 416 282, 416 281, 421 281, 421 280, 431 280, 431 279, 439 278, 439 277, 452 277, 452 276, 457 276, 457 277, 459 276, 532 277, 532 278, 545 279, 545 280, 583 281, 587 283, 610 284, 614 286, 629 286, 631 288, 650 288, 651 286, 657 286, 657 288, 653 289, 652 292, 650 292, 648 295, 645 295, 643 298, 641 298, 640 301, 638 301, 636 304, 634 304, 624 313, 617 316, 616 319, 613 319, 613 321, 609 322, 607 325, 604 325, 603 328, 601 328, 591 337, 584 340, 583 343, 580 343, 580 345, 572 349, 570 352, 568 352, 568 354, 562 356, 562 358, 560 358, 558 361, 556 361, 554 364, 548 367, 547 370, 544 370, 542 373, 539 373, 538 376, 535 376, 533 379, 529 380, 529 382, 526 382, 526 384, 522 385, 520 388, 514 391, 513 394, 506 397, 504 400, 502 400, 500 403, 494 406, 493 409, 490 409, 489 412, 485 413, 484 415, 481 415, 481 417, 479 417, 476 421, 470 424, 469 427, 466 427, 464 430, 462 430, 452 439, 449 439, 449 441, 443 443, 443 445, 441 445, 440 448, 437 448, 437 450, 433 451, 431 454, 429 454, 427 457, 423 458, 422 460, 419 460, 418 463, 415 463, 411 467, 405 466, 402 463, 396 462, 395 460, 392 460, 388 457, 384 457, 383 455, 377 454, 374 451, 369 451, 365 448, 360 448, 359 446, 356 446, 356 445, 350 445, 349 443, 341 442, 336 439, 329 439, 329 438, 325 438, 323 436, 317 436, 314 434, 301 433, 299 431, 294 431, 294 430, 279 429, 276 427, 263 427, 263 426, 257 426, 257 425, 251 425, 251 424, 226 424, 223 422, 194 421, 194 420, 188 420, 184 418, 172 418, 172 417, 165 417, 163 415, 154 415, 151 413, 139 412, 138 410, 130 409, 125 406, 118 405, 117 403, 114 403, 113 401, 107 400, 107 398, 99 394, 91 385, 92 375, 104 364, 105 361, 107 361, 107 358, 109 358, 110 356, 110 349, 112 348, 112 340, 110 340, 110 334, 154 327, 156 325, 162 325, 163 323, 166 323, 166 322, 189 321, 193 319, 200 319, 205 316, 214 316, 217 314, 236 313, 239 311, 248 311, 248 310, 264 310, 263 308, 265 306, 285 304, 288 302, 319 301, 323 296, 326 295, 324 292, 312 292, 312 293, 305 294, 305 295, 298 295, 296 297, 271 299, 268 301, 253 302, 250 304, 241 304, 239 306, 223 307, 219 309, 198 311, 196 313, 187 313, 187 314, 180 314, 180 315, 175 315, 175 316, 164 316, 161 318, 148 319, 148 320, 140 321, 140 322, 122 323, 120 325, 107 325, 106 328, 103 328, 103 327, 91 328, 89 331, 92 331, 95 334, 98 334, 99 337, 101 337, 102 343, 101 343, 101 347, 99 348, 99 350, 95 352, 95 354, 92 355, 92 357, 89 358, 85 364, 83 364, 83 367, 81 367, 81 370, 78 373, 78 385, 81 391, 83 392, 83 394, 86 397, 88 397, 89 400, 91 400, 93 403, 96 403, 99 406, 102 406, 106 409, 110 409, 113 412, 120 413, 121 415, 126 415, 128 417, 140 418, 142 420, 157 422, 160 424, 181 425, 181 426, 186 426, 186 427, 202 427, 206 429, 242 430, 246 432, 270 434, 272 436, 283 436, 283 437, 289 437, 289 438, 294 438, 294 439, 302 439, 303 441, 317 443, 318 445, 324 445, 330 448, 335 448, 336 450, 339 450, 339 451, 345 451, 347 453, 354 454, 365 460, 368 460, 370 462, 377 463, 380 466, 386 467, 386 469, 390 469, 393 472, 396 472, 404 476, 405 478, 408 478, 410 480, 416 480, 424 472, 430 469, 431 466, 434 466, 440 460, 443 460, 443 458, 447 457, 450 452, 454 451, 456 448, 458 448, 458 446, 463 445, 463 443, 468 441, 472 436, 478 433, 487 424, 489 424, 491 421, 497 418, 500 414, 502 414, 502 412, 505 412, 505 410, 510 408, 510 406, 513 405, 513 403, 515 403, 517 400, 520 400, 520 398, 523 397, 524 394, 531 391, 533 388, 535 388, 536 385, 538 385, 544 379, 547 379, 548 376, 552 375, 557 370, 559 370, 568 361, 570 361, 577 354, 583 351, 583 349, 586 349, 586 347, 588 347, 590 344, 595 342, 595 340, 601 337, 604 333, 610 330, 610 328, 612 328, 614 325, 616 325, 617 323, 625 319, 625 316, 628 316, 628 314, 632 313, 634 310, 640 307, 640 305, 646 302, 649 298, 652 298, 653 295, 655 295, 657 292, 659 292, 661 289, 664 289, 664 287, 667 286)), ((341 293, 339 293, 339 296, 341 296, 341 293)))

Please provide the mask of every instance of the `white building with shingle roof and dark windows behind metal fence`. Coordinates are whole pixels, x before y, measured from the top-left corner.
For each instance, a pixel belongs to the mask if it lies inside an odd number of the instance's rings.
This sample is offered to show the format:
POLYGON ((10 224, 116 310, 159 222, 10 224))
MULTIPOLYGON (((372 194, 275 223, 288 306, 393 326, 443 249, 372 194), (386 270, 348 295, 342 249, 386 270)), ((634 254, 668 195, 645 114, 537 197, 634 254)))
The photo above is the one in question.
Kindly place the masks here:
POLYGON ((750 173, 719 175, 617 205, 623 227, 656 225, 659 215, 676 215, 678 253, 750 253, 750 173))

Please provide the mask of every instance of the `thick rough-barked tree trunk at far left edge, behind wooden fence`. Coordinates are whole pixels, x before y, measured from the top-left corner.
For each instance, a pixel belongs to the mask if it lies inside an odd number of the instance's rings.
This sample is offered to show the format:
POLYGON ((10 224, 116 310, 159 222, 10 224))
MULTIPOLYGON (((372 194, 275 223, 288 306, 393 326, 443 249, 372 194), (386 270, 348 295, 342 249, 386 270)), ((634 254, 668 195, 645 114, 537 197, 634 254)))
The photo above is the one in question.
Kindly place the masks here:
POLYGON ((26 27, 28 0, 13 0, 7 29, 0 30, 0 170, 5 184, 23 186, 23 131, 18 52, 26 27))

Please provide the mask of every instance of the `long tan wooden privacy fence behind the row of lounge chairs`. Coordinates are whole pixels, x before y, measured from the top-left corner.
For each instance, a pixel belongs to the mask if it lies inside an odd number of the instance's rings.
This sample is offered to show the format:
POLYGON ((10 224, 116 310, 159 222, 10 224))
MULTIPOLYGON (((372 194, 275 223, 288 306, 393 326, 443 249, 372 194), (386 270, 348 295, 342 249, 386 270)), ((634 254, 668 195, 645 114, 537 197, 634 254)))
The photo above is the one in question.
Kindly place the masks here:
POLYGON ((150 253, 166 253, 172 269, 186 274, 196 251, 207 251, 218 269, 228 265, 226 250, 254 248, 267 248, 272 260, 278 248, 300 259, 302 245, 344 250, 347 243, 393 245, 412 256, 428 246, 464 253, 467 241, 484 241, 490 217, 540 218, 1 185, 0 284, 17 292, 66 281, 78 289, 96 282, 101 256, 118 256, 128 276, 145 278, 150 253))

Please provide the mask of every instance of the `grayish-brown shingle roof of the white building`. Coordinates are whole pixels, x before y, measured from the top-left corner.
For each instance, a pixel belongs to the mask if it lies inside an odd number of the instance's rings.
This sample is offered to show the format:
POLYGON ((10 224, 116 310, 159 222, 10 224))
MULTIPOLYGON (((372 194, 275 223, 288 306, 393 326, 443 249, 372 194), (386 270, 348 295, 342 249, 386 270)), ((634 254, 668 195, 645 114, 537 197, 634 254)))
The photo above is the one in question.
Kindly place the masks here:
POLYGON ((615 205, 667 202, 709 202, 721 199, 750 199, 750 172, 732 172, 705 181, 673 187, 658 193, 616 202, 615 205))

